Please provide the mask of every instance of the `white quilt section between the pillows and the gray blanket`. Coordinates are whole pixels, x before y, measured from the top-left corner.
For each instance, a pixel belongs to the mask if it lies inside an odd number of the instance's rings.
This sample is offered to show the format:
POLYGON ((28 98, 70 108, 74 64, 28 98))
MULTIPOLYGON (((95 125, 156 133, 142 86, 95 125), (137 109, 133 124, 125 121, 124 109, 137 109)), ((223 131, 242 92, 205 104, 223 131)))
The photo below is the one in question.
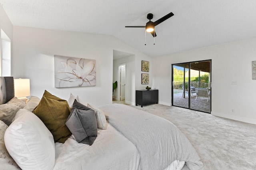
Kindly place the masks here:
POLYGON ((92 146, 76 142, 70 136, 64 144, 55 143, 54 170, 137 170, 138 150, 114 127, 98 129, 92 146))

